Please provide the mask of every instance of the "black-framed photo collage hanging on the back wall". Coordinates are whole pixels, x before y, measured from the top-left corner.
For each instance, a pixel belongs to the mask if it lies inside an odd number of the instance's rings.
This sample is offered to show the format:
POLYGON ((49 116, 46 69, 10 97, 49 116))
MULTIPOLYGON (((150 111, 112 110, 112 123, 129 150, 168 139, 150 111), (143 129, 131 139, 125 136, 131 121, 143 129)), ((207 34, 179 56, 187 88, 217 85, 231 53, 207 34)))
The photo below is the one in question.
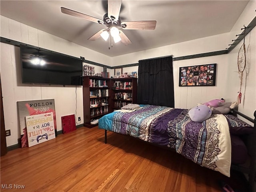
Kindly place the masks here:
POLYGON ((179 86, 215 86, 217 64, 180 67, 179 86))

